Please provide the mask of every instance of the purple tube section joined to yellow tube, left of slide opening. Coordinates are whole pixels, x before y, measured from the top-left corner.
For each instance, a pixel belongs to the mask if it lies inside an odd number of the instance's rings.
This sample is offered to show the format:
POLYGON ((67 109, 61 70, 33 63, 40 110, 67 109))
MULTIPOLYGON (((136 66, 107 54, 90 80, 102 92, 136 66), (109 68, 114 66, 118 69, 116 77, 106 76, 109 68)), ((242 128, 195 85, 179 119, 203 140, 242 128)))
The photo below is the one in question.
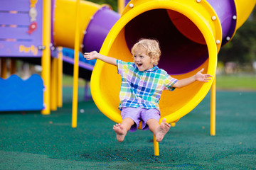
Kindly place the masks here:
POLYGON ((107 6, 100 8, 87 26, 83 39, 83 52, 100 51, 100 48, 120 15, 107 6))

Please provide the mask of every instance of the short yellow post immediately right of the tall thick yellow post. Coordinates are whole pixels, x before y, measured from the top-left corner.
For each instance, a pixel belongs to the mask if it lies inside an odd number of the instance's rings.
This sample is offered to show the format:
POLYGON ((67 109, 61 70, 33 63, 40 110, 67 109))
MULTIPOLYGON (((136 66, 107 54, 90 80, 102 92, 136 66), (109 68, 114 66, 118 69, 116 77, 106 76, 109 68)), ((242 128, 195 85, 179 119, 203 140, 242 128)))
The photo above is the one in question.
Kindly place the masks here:
POLYGON ((50 111, 57 111, 57 74, 58 74, 58 59, 52 58, 50 72, 50 111))

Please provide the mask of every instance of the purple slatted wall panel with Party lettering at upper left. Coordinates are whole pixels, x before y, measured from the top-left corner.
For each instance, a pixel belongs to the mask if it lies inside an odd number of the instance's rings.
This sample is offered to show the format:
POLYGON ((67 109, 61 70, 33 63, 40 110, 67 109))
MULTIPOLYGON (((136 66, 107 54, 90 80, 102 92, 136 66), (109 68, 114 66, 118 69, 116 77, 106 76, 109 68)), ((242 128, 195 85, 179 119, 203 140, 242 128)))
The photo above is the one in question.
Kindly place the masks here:
POLYGON ((0 57, 41 57, 42 1, 1 0, 0 57), (34 16, 30 6, 36 9, 34 16))

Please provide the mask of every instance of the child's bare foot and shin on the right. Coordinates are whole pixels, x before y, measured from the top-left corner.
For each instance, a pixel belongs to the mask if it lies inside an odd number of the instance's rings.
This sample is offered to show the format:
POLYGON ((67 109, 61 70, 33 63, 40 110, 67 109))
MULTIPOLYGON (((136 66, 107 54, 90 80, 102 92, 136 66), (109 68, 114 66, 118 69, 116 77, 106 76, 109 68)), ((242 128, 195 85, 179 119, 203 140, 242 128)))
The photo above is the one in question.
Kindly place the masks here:
POLYGON ((161 142, 171 127, 171 125, 166 123, 166 118, 162 120, 160 125, 156 119, 149 119, 146 121, 146 124, 149 125, 149 130, 156 137, 156 142, 161 142))

